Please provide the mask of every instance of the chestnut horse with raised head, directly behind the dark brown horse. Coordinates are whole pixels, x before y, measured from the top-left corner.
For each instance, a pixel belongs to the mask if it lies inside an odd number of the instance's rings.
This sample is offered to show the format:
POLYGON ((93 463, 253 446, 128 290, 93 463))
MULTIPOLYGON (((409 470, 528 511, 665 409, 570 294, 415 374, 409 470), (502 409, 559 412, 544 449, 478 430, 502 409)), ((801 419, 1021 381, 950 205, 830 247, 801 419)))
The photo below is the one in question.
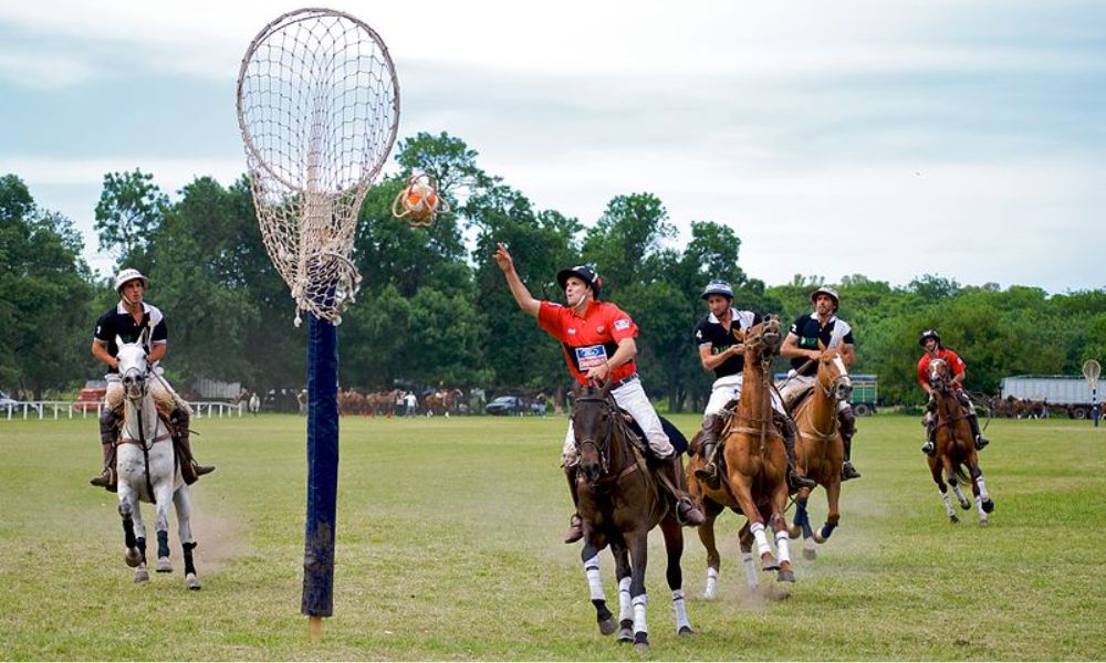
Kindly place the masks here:
POLYGON ((743 514, 748 520, 738 537, 749 587, 758 586, 752 556, 754 541, 765 571, 779 571, 778 581, 795 581, 783 517, 787 503, 787 454, 783 448, 783 435, 772 418, 768 382, 768 366, 780 350, 780 320, 773 316, 745 330, 741 400, 719 435, 722 446, 716 452, 716 457, 721 457, 724 463, 720 469, 723 477, 719 487, 713 490, 695 476, 695 470, 703 464, 701 455, 695 454, 688 462, 688 485, 691 494, 702 499, 707 516, 707 522, 699 526, 699 539, 707 549, 707 589, 703 592, 707 599, 714 597, 718 586, 721 557, 714 544, 714 519, 724 508, 743 514), (764 534, 765 522, 775 532, 779 560, 772 557, 764 534))

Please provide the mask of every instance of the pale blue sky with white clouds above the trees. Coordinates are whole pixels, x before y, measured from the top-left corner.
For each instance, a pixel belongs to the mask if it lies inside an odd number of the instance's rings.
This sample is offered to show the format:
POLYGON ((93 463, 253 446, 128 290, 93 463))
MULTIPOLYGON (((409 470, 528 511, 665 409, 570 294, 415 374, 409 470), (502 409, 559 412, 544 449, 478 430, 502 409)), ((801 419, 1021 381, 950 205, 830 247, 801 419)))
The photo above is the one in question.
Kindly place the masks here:
MULTIPOLYGON (((232 183, 242 56, 302 1, 0 1, 0 173, 72 219, 106 274, 104 175, 140 168, 171 199, 232 183)), ((400 138, 462 139, 538 209, 592 225, 651 192, 674 245, 726 224, 769 285, 1106 287, 1106 3, 327 7, 387 43, 400 138)))

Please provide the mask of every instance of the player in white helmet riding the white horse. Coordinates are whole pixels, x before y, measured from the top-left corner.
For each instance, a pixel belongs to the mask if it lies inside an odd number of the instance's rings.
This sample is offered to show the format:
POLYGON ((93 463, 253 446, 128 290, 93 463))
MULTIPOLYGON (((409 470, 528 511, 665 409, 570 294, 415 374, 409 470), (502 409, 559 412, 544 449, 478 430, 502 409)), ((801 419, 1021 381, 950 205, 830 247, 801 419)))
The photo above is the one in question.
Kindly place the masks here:
POLYGON ((115 358, 119 351, 116 337, 124 343, 137 341, 143 332, 147 335, 147 355, 150 366, 149 390, 157 403, 161 417, 168 418, 173 440, 180 456, 180 474, 186 483, 195 483, 199 476, 213 472, 210 465, 199 465, 192 457, 191 443, 188 436, 188 422, 191 409, 168 382, 154 370, 157 362, 165 357, 168 348, 168 334, 165 317, 160 309, 143 301, 149 280, 138 270, 125 269, 115 276, 115 292, 119 303, 96 320, 96 332, 92 339, 92 355, 108 367, 107 372, 107 409, 100 418, 100 440, 104 451, 104 473, 90 483, 112 491, 117 488, 118 476, 115 472, 115 445, 119 438, 119 423, 123 421, 123 383, 119 380, 119 362, 115 358))

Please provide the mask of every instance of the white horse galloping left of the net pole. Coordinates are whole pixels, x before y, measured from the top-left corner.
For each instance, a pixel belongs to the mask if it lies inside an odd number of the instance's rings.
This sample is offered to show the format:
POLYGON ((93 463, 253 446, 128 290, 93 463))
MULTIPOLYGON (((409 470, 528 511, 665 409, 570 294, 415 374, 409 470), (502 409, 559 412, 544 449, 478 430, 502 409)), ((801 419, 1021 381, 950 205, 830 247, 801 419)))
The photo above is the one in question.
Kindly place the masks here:
MULTIPOLYGON (((185 586, 199 589, 192 562, 190 525, 192 505, 188 486, 177 470, 177 459, 168 427, 158 417, 154 396, 149 391, 150 369, 146 359, 146 333, 137 343, 123 343, 118 336, 119 375, 124 390, 123 434, 116 452, 119 477, 119 516, 126 540, 127 566, 135 567, 135 582, 149 580, 146 570, 146 525, 139 501, 157 505, 157 572, 173 571, 169 561, 169 501, 177 509, 177 533, 185 559, 185 586)), ((159 379, 154 376, 153 379, 159 379)))

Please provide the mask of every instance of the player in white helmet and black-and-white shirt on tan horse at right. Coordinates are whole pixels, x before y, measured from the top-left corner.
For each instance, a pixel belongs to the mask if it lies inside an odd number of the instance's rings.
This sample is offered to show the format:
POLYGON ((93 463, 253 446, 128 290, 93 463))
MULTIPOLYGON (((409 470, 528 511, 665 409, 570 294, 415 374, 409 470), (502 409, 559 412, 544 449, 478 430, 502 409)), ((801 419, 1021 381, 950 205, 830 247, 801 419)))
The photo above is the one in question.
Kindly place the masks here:
MULTIPOLYGON (((841 307, 841 296, 832 287, 818 287, 811 293, 812 313, 805 313, 795 318, 791 333, 783 340, 780 354, 791 358, 792 369, 787 373, 787 382, 780 389, 783 403, 790 411, 804 393, 814 386, 818 372, 818 359, 822 358, 822 346, 826 349, 837 348, 845 368, 853 368, 856 350, 853 343, 853 327, 837 317, 841 307), (822 345, 818 345, 818 341, 822 345)), ((853 455, 853 434, 856 433, 856 415, 853 406, 847 401, 837 403, 837 422, 841 439, 845 443, 845 462, 841 466, 841 480, 859 478, 860 473, 853 467, 849 457, 853 455)))

